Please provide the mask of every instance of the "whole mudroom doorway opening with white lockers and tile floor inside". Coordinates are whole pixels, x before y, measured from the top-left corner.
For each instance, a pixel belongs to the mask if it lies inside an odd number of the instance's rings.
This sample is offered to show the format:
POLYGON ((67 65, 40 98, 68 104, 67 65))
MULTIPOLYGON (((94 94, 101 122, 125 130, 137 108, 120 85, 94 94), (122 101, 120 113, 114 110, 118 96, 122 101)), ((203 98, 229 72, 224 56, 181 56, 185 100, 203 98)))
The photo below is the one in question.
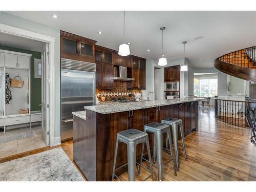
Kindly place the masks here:
POLYGON ((0 34, 0 159, 49 145, 49 44, 0 34))

